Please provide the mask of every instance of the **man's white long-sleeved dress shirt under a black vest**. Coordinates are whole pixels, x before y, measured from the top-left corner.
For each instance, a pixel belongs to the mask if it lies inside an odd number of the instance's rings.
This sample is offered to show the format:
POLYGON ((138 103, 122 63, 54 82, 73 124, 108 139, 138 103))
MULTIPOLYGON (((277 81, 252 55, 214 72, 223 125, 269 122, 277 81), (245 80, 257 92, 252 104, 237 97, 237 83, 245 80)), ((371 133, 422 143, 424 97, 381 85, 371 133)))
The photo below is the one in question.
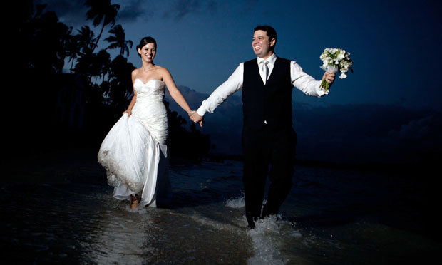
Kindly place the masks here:
MULTIPOLYGON (((272 70, 274 67, 274 62, 276 61, 277 56, 275 53, 272 54, 266 60, 262 58, 258 58, 258 68, 259 75, 262 78, 264 84, 266 83, 265 73, 262 71, 261 64, 267 61, 267 67, 269 71, 267 76, 270 77, 272 75, 272 70)), ((227 97, 237 92, 242 88, 243 82, 243 73, 244 73, 244 63, 240 63, 235 71, 232 73, 232 76, 229 77, 222 85, 217 87, 212 94, 206 100, 202 101, 200 108, 197 109, 197 113, 201 116, 204 116, 205 113, 213 113, 217 106, 221 105, 221 103, 226 100, 227 97)), ((290 62, 290 78, 294 87, 298 88, 306 95, 312 95, 314 97, 322 97, 323 95, 328 94, 328 90, 325 91, 324 88, 321 88, 321 81, 317 81, 312 76, 309 76, 307 73, 302 71, 301 66, 297 64, 295 61, 290 62)), ((268 79, 268 78, 267 78, 268 79)))

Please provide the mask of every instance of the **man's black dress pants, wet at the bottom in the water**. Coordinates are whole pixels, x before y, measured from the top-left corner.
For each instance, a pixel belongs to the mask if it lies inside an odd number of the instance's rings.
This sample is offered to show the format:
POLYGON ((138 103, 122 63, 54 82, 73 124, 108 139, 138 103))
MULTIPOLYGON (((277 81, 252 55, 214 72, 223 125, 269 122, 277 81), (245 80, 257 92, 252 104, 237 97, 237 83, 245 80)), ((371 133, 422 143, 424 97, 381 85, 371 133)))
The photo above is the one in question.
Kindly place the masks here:
POLYGON ((269 176, 270 186, 262 217, 277 214, 292 188, 297 136, 293 128, 243 129, 243 182, 247 221, 261 217, 264 189, 269 176))

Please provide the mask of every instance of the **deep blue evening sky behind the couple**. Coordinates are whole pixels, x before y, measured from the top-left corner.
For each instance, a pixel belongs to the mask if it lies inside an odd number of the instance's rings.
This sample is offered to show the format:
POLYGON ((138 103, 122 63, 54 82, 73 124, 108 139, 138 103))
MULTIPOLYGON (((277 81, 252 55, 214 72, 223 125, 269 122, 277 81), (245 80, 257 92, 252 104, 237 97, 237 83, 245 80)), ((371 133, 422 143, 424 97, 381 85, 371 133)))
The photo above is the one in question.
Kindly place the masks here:
MULTIPOLYGON (((46 10, 56 11, 66 25, 93 28, 86 21, 83 1, 41 2, 48 3, 46 10)), ((251 41, 258 24, 277 30, 278 56, 297 61, 317 79, 323 73, 319 55, 324 48, 349 51, 354 73, 336 80, 327 97, 294 91, 295 115, 303 115, 295 118, 294 125, 303 137, 299 147, 305 158, 325 152, 336 161, 367 157, 388 161, 404 155, 405 148, 416 156, 411 160, 419 160, 426 152, 440 152, 442 9, 438 1, 133 0, 112 4, 120 4, 117 24, 134 43, 129 56, 134 66, 140 66, 136 44, 144 36, 153 36, 158 42, 155 63, 168 68, 177 85, 191 88, 193 94, 211 93, 238 63, 254 57, 251 41)), ((98 33, 98 28, 94 30, 98 33)), ((199 103, 193 104, 197 108, 199 103)), ((221 119, 221 114, 215 115, 214 123, 221 119)), ((210 131, 210 118, 206 122, 210 131)))

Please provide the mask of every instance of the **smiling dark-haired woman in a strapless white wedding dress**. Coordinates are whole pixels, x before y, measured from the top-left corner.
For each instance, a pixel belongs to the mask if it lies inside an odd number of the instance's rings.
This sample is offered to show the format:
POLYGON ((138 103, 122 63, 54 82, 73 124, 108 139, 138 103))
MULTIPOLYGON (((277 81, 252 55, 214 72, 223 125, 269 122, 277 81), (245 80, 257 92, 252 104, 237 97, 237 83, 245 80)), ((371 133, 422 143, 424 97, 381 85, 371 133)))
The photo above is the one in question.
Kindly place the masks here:
POLYGON ((113 196, 128 199, 132 209, 138 203, 156 207, 157 200, 171 196, 165 86, 183 110, 193 113, 168 69, 153 63, 156 49, 155 39, 141 39, 137 51, 142 66, 132 72, 133 98, 98 151, 98 162, 114 187, 113 196))

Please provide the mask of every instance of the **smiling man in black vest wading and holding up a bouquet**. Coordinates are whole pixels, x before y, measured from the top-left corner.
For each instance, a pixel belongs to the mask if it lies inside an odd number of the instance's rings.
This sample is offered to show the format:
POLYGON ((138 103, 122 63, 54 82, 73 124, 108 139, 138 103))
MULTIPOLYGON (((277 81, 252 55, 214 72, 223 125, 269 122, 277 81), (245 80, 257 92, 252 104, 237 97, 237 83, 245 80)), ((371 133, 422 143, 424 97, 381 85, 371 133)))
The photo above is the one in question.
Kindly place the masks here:
MULTIPOLYGON (((190 117, 201 125, 206 112, 213 113, 228 96, 242 89, 243 183, 245 214, 250 228, 255 228, 256 219, 278 214, 292 188, 297 143, 292 128, 293 86, 316 97, 328 93, 320 87, 321 81, 304 73, 296 62, 277 57, 274 53, 276 43, 274 28, 257 26, 252 38, 257 58, 240 63, 232 76, 202 101, 190 117), (271 184, 261 214, 267 175, 271 184)), ((332 84, 334 73, 324 73, 324 79, 332 84)))

